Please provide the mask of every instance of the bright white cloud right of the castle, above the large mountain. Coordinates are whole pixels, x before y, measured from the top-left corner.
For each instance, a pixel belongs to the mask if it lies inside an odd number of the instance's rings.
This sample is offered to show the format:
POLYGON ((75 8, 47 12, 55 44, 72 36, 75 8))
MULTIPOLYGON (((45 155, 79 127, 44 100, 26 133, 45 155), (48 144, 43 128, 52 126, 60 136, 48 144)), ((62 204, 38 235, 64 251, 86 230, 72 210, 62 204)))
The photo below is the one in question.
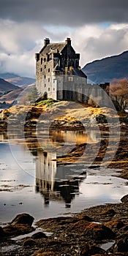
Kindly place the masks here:
POLYGON ((116 55, 127 50, 128 24, 112 24, 104 29, 98 25, 86 25, 72 34, 75 50, 80 52, 81 66, 95 59, 116 55))

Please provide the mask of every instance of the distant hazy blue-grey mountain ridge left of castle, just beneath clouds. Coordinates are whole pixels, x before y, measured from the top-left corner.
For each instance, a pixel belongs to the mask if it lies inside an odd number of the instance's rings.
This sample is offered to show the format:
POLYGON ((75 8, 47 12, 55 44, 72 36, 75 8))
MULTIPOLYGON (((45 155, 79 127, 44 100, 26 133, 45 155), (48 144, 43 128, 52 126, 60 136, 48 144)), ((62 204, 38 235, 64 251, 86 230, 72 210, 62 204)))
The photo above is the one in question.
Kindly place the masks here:
POLYGON ((2 73, 0 78, 3 78, 9 83, 13 83, 15 86, 26 87, 36 82, 34 78, 20 77, 13 73, 2 73))

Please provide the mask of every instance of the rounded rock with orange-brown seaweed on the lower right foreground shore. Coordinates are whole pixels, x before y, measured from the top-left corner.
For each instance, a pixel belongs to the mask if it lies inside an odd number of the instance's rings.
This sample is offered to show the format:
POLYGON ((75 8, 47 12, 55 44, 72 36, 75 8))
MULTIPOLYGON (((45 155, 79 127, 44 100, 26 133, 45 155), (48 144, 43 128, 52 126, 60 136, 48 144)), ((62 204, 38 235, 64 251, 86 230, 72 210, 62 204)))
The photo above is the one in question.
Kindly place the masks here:
POLYGON ((110 230, 109 227, 105 225, 100 225, 96 223, 91 223, 86 227, 84 232, 86 238, 93 239, 94 241, 102 241, 104 239, 113 239, 115 238, 115 233, 110 230))

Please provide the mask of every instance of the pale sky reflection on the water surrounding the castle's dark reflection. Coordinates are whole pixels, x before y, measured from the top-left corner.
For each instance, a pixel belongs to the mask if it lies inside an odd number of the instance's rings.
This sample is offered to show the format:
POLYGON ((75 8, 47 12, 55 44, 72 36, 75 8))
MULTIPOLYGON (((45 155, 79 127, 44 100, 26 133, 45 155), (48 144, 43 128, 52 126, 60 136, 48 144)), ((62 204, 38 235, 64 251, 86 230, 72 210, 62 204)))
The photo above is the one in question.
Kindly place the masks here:
MULTIPOLYGON (((34 157, 29 150, 25 151, 23 146, 12 145, 11 150, 8 143, 0 143, 0 189, 4 188, 3 185, 13 187, 13 192, 0 192, 0 222, 10 221, 22 212, 29 213, 36 219, 56 217, 65 212, 78 212, 102 203, 119 202, 128 192, 124 179, 110 176, 113 170, 106 169, 103 172, 103 169, 89 169, 86 178, 80 183, 79 195, 75 195, 72 200, 71 208, 65 208, 62 200, 50 201, 50 205, 46 207, 42 195, 35 192, 34 157), (17 161, 12 157, 12 153, 17 161), (20 184, 29 187, 18 189, 20 184)), ((71 169, 75 175, 78 173, 75 165, 71 165, 71 169)), ((86 167, 81 170, 86 171, 86 167)))

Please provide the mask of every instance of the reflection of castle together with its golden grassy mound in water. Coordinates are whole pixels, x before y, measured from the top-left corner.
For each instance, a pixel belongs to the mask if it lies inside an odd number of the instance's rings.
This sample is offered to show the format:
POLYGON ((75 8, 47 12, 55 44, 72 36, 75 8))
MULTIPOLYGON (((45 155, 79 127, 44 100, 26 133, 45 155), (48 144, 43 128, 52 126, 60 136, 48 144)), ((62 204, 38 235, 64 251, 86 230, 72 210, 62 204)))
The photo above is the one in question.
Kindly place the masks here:
POLYGON ((81 181, 86 178, 85 165, 78 159, 83 157, 86 144, 99 142, 99 134, 91 130, 87 135, 85 130, 50 129, 49 141, 45 137, 43 134, 36 143, 36 139, 33 141, 26 135, 28 148, 36 156, 36 192, 44 197, 45 206, 51 200, 58 200, 69 208, 75 195, 79 194, 81 181), (52 149, 48 143, 52 144, 52 149))

